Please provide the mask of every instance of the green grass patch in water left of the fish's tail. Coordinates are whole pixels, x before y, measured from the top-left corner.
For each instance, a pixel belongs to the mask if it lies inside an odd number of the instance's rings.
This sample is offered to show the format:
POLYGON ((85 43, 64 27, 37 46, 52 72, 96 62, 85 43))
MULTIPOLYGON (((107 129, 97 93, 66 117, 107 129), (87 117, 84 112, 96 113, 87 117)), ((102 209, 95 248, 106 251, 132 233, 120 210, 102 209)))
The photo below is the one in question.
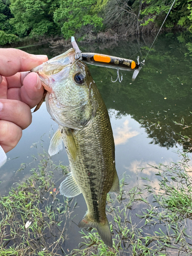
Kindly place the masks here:
POLYGON ((72 201, 57 199, 51 167, 66 171, 42 154, 30 178, 0 198, 0 255, 60 255, 73 208, 72 201))

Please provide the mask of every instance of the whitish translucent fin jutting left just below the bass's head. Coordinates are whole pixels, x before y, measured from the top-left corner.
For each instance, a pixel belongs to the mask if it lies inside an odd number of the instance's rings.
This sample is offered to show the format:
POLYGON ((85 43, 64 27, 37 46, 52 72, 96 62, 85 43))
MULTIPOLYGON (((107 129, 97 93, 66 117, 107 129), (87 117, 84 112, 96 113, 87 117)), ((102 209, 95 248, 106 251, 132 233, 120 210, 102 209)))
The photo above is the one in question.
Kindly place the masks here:
POLYGON ((50 156, 53 156, 57 154, 60 150, 62 150, 62 134, 58 129, 50 141, 48 152, 50 156))

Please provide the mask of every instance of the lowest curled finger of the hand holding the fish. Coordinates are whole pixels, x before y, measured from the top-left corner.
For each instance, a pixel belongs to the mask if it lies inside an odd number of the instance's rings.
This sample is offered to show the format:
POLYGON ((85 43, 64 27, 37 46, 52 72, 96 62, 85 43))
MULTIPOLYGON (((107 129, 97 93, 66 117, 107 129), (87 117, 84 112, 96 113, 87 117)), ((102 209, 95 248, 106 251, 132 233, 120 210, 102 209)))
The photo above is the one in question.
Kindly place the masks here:
POLYGON ((5 153, 12 150, 20 138, 22 137, 22 129, 15 123, 0 120, 0 144, 5 153))

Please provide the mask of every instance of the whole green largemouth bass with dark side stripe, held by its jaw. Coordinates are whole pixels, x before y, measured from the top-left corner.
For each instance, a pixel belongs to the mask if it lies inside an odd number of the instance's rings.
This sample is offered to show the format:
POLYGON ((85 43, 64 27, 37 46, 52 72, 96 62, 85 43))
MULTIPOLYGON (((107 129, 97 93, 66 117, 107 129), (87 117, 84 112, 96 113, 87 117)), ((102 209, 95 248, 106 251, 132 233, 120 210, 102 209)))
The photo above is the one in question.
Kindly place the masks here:
POLYGON ((51 139, 49 154, 65 144, 71 172, 60 185, 66 197, 83 194, 87 213, 79 227, 95 227, 103 242, 112 247, 105 214, 106 195, 119 191, 115 146, 106 106, 86 64, 75 59, 74 49, 37 68, 45 89, 47 110, 59 124, 51 139))

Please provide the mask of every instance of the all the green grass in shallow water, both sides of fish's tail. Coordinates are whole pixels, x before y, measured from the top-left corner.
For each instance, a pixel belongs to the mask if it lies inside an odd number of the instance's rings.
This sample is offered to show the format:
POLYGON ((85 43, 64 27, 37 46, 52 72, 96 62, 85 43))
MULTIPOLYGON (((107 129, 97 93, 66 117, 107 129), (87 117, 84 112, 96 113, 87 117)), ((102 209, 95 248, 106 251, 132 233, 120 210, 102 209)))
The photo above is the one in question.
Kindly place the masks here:
POLYGON ((120 193, 108 195, 106 211, 113 248, 106 247, 97 230, 89 228, 80 231, 81 243, 72 251, 65 241, 76 203, 68 198, 59 201, 52 172, 55 169, 65 174, 67 168, 53 165, 46 154, 41 154, 30 178, 0 198, 0 255, 191 255, 190 158, 178 154, 182 156, 180 162, 153 166, 158 187, 144 177, 144 186, 130 188, 129 177, 124 176, 120 193), (31 225, 26 228, 28 221, 31 225))

